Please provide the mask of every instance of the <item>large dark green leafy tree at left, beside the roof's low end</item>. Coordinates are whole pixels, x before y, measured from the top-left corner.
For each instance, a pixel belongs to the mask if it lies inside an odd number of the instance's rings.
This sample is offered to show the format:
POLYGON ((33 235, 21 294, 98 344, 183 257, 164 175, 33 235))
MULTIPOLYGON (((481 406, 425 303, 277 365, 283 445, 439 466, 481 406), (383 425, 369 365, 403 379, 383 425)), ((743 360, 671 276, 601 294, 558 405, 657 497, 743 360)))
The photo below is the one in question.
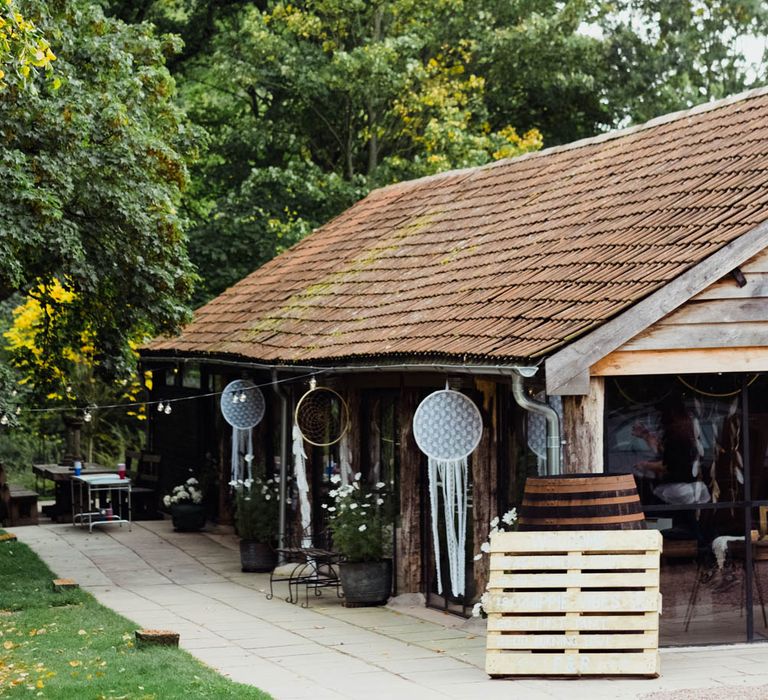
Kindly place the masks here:
POLYGON ((165 67, 179 43, 86 0, 28 0, 24 14, 54 46, 57 80, 0 96, 0 297, 57 314, 35 328, 47 357, 87 331, 97 371, 113 374, 133 364, 129 339, 187 318, 178 206, 194 129, 165 67))

